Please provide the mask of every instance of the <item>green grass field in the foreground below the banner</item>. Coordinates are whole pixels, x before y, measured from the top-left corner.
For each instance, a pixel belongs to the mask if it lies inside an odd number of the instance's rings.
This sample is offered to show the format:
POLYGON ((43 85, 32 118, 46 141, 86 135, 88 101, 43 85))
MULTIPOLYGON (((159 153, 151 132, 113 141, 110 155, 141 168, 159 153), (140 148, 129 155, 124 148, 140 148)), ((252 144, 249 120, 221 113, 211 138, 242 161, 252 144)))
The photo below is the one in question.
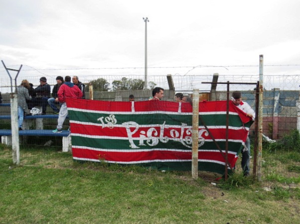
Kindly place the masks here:
POLYGON ((59 148, 22 148, 14 166, 0 145, 0 223, 300 222, 299 185, 257 183, 240 172, 228 181, 199 176, 77 163, 59 148))

